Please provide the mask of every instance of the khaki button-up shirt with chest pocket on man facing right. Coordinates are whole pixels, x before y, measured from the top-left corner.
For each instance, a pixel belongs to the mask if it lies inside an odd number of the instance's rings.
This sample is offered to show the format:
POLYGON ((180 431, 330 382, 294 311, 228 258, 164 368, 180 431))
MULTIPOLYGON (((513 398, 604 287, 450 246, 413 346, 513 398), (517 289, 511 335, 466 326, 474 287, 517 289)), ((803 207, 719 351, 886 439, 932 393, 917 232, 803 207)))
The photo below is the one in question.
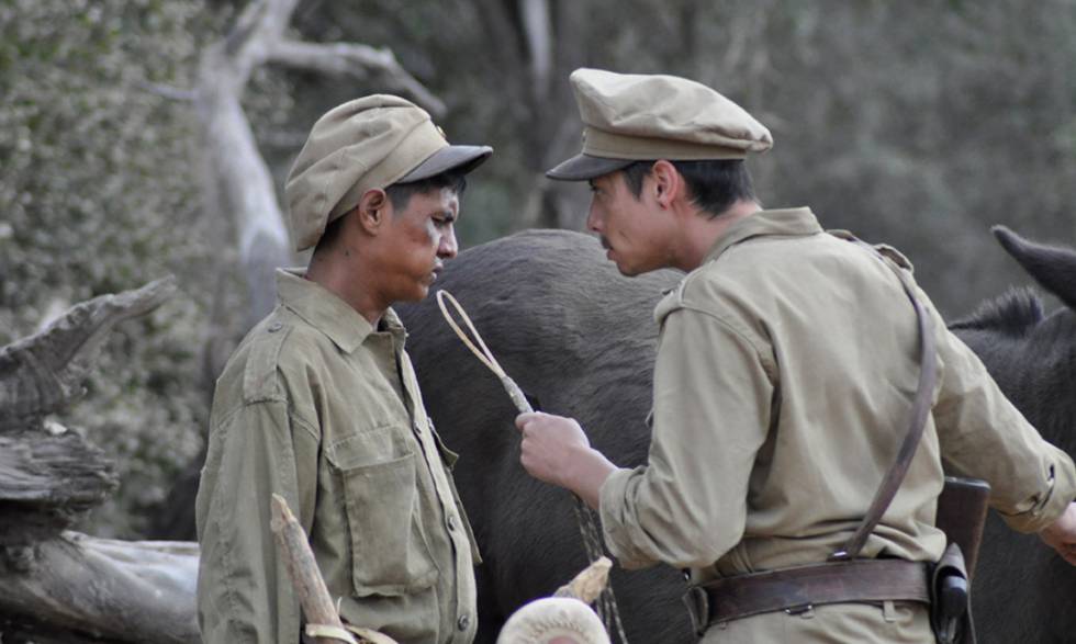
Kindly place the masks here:
POLYGON ((471 642, 477 551, 390 309, 376 330, 278 271, 280 304, 232 355, 198 493, 206 644, 295 644, 300 608, 270 532, 280 494, 340 617, 399 642, 471 642))

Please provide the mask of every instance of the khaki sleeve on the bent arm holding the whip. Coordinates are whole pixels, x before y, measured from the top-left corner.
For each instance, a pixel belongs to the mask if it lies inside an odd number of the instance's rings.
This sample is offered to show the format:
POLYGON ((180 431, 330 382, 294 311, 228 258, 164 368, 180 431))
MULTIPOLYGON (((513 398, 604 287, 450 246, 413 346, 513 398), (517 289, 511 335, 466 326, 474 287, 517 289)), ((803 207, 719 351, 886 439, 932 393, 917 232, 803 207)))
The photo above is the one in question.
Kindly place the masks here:
POLYGON ((621 565, 704 567, 740 541, 772 395, 755 344, 736 326, 687 308, 664 318, 648 464, 601 489, 606 542, 621 565))

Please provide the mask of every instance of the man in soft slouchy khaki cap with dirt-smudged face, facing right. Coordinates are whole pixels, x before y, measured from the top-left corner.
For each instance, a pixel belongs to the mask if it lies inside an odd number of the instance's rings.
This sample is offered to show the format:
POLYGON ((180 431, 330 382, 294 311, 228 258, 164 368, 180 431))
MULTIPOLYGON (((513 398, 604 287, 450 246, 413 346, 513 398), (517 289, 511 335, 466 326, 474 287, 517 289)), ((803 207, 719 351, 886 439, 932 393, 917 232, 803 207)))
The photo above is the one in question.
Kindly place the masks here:
POLYGON ((449 145, 426 112, 390 95, 314 124, 285 187, 310 265, 278 271, 280 302, 213 400, 197 502, 206 644, 300 641, 273 493, 310 535, 345 622, 399 642, 473 640, 478 553, 456 455, 426 417, 389 307, 425 297, 456 256, 463 176, 491 151, 449 145))

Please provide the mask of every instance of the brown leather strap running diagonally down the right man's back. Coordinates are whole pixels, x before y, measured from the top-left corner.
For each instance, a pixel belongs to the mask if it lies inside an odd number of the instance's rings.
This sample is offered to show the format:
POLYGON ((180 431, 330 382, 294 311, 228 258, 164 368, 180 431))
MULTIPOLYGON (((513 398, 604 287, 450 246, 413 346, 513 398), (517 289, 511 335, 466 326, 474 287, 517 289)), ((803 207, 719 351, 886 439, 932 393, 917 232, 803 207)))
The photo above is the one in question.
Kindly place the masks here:
POLYGON ((882 520, 882 516, 885 515, 886 508, 893 501, 893 497, 897 495, 897 489, 900 488, 901 482, 904 482, 905 475, 908 473, 908 467, 911 465, 911 459, 916 455, 916 449, 919 447, 919 441, 922 439, 923 429, 927 426, 927 415, 930 414, 931 400, 933 397, 934 382, 938 379, 937 364, 935 364, 935 348, 934 348, 934 334, 933 325, 931 324, 930 316, 923 308, 919 298, 916 297, 915 289, 911 284, 911 280, 908 279, 900 269, 896 265, 886 261, 886 259, 871 245, 860 241, 859 239, 852 238, 858 246, 867 249, 873 256, 878 258, 878 261, 888 267, 900 280, 900 285, 904 287, 905 294, 908 300, 911 301, 912 307, 916 309, 916 318, 919 321, 919 386, 916 388, 916 398, 911 406, 911 413, 908 417, 908 429, 905 434, 904 442, 900 443, 900 450, 897 452, 897 459, 894 461, 893 465, 889 466, 889 471, 886 472, 885 477, 882 479, 882 485, 878 490, 874 493, 874 500, 871 501, 871 507, 867 509, 866 515, 863 517, 863 521, 860 522, 859 528, 852 536, 844 543, 843 547, 830 555, 832 561, 852 560, 860 554, 860 550, 863 549, 863 544, 866 543, 867 536, 877 527, 878 521, 882 520))

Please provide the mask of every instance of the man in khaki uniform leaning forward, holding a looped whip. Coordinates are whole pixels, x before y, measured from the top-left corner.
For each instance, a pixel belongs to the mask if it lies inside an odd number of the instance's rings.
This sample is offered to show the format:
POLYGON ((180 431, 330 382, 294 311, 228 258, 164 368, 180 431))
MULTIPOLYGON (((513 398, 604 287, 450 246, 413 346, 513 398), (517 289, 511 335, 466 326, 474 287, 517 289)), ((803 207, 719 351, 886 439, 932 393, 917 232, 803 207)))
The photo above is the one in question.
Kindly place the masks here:
MULTIPOLYGON (((770 148, 770 133, 711 89, 593 69, 571 81, 583 152, 549 177, 590 182, 587 226, 621 273, 687 274, 654 310, 648 463, 618 468, 574 420, 528 414, 517 420, 524 466, 598 508, 625 567, 663 562, 705 585, 826 562, 858 528, 907 432, 920 339, 894 269, 910 280, 910 264, 826 234, 809 208, 762 210, 744 158, 770 148)), ((898 566, 941 557, 944 461, 986 479, 1010 527, 1039 532, 1076 563, 1072 460, 917 294, 937 341, 932 411, 859 557, 898 566)), ((704 641, 933 641, 922 602, 809 603, 708 620, 704 641)))

